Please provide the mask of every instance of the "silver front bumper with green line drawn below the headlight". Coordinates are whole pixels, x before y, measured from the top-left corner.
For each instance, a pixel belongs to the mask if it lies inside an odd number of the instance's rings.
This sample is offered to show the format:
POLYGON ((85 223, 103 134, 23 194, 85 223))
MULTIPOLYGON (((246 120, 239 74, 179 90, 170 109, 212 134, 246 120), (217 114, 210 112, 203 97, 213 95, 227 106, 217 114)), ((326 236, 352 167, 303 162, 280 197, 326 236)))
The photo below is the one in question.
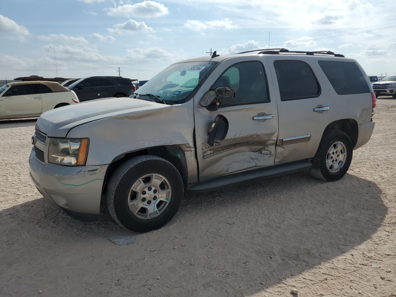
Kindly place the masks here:
POLYGON ((84 221, 97 220, 108 165, 62 166, 43 164, 34 148, 29 157, 30 177, 39 192, 70 216, 84 221))

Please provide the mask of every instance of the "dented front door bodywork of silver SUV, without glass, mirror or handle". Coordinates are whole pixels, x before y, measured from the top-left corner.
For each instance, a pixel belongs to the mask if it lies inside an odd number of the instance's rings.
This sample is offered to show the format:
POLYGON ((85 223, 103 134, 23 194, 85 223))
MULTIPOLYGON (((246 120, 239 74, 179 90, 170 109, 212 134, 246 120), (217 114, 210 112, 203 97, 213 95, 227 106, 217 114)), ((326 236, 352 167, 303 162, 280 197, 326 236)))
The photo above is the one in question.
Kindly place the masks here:
MULTIPOLYGON (((194 118, 199 166, 199 179, 204 181, 214 177, 273 166, 278 138, 278 110, 273 100, 267 103, 220 107, 209 111, 200 106, 200 99, 221 74, 230 66, 242 61, 251 61, 252 57, 240 57, 238 61, 223 61, 211 73, 194 97, 194 118), (213 146, 207 144, 208 130, 217 114, 228 120, 226 138, 213 146), (261 114, 272 114, 267 120, 253 120, 261 114)), ((267 72, 269 97, 273 94, 272 78, 265 59, 261 56, 255 60, 263 63, 267 72)))

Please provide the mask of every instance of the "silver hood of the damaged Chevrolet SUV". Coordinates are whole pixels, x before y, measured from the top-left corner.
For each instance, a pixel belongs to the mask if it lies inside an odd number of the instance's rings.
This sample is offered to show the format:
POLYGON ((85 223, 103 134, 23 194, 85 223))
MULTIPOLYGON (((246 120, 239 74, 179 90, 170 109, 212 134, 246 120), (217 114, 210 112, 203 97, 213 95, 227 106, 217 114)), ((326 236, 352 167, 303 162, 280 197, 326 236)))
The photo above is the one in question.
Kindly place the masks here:
POLYGON ((36 129, 49 137, 66 137, 70 129, 88 122, 167 106, 130 97, 96 99, 44 112, 36 122, 36 129))

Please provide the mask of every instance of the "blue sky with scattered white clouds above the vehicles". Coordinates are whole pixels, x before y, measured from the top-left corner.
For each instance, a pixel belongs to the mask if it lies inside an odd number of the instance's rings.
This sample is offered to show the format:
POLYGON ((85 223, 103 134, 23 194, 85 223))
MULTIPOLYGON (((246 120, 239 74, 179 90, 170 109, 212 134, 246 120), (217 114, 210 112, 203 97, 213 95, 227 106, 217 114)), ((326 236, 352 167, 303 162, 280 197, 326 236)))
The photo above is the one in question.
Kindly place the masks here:
POLYGON ((396 72, 396 2, 12 0, 0 11, 0 79, 118 75, 150 79, 170 63, 268 47, 350 55, 396 72), (384 9, 386 8, 386 9, 384 9))

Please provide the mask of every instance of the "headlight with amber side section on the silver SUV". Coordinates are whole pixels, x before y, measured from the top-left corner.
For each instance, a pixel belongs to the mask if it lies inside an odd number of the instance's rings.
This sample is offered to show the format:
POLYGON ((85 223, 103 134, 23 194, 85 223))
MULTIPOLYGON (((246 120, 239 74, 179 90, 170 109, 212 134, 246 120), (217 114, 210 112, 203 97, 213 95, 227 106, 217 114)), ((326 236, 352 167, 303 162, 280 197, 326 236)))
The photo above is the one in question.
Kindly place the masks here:
POLYGON ((85 165, 88 138, 50 138, 48 162, 66 166, 85 165))

